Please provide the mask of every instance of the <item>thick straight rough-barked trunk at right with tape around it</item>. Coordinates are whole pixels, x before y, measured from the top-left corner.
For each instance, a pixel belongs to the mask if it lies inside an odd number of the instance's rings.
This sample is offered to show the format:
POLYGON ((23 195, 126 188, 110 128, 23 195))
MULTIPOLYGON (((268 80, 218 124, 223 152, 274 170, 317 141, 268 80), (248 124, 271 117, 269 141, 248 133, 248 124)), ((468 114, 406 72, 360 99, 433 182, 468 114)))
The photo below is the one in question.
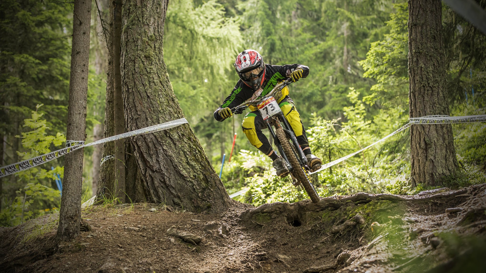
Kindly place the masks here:
MULTIPOLYGON (((441 1, 409 0, 408 10, 410 118, 449 115, 441 1)), ((455 174, 451 124, 413 125, 410 136, 412 185, 440 186, 455 174)))

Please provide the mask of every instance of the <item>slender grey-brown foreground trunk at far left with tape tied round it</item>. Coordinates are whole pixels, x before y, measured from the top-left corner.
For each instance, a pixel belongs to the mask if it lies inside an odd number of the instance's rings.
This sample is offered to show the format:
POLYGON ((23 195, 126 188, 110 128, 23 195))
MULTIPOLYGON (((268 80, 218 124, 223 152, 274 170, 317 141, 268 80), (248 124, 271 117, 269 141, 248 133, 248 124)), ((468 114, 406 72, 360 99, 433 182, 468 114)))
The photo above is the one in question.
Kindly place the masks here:
MULTIPOLYGON (((86 139, 86 97, 89 71, 91 1, 74 0, 71 72, 69 78, 68 140, 86 139)), ((59 211, 58 240, 78 236, 81 221, 83 149, 66 154, 64 187, 59 211)))

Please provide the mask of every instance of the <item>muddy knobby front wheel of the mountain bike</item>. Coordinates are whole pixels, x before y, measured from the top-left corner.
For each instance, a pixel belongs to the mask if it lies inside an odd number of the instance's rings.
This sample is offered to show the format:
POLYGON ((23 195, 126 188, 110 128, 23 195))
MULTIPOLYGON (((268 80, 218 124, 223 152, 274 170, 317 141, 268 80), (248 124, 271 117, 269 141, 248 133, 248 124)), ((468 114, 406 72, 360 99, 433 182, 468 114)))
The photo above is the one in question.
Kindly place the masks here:
POLYGON ((283 131, 281 126, 276 126, 275 134, 277 135, 278 141, 280 142, 280 145, 282 145, 283 151, 287 155, 287 158, 289 159, 289 163, 294 168, 294 176, 295 178, 302 184, 304 187, 305 191, 309 195, 309 197, 312 200, 312 203, 318 203, 319 202, 319 195, 315 191, 314 187, 311 184, 309 175, 307 174, 307 171, 299 164, 297 158, 295 157, 294 152, 292 151, 292 148, 290 147, 289 141, 287 139, 287 136, 285 136, 285 132, 283 131))

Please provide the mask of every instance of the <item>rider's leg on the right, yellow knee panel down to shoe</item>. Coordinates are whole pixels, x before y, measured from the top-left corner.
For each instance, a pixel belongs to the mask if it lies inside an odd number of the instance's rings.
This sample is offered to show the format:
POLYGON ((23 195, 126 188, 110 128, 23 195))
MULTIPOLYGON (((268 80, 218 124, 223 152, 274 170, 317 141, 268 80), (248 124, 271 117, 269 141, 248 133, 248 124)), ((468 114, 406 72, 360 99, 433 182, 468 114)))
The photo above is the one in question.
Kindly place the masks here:
POLYGON ((311 152, 311 148, 309 147, 309 140, 307 140, 304 125, 302 124, 300 115, 295 108, 294 102, 290 97, 287 96, 279 103, 279 106, 280 109, 282 109, 285 119, 287 119, 290 126, 294 130, 297 141, 299 142, 300 148, 302 148, 302 152, 304 152, 304 154, 306 155, 307 160, 309 161, 309 165, 312 169, 320 168, 322 161, 311 152))

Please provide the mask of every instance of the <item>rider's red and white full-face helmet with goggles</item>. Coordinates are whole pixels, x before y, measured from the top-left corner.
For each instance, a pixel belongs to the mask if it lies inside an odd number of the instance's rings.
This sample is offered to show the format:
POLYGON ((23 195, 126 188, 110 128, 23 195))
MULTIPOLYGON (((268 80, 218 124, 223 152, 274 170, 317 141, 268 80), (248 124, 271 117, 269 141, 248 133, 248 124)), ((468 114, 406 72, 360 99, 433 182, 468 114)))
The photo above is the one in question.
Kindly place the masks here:
POLYGON ((258 90, 265 78, 265 63, 260 53, 254 50, 244 50, 235 61, 235 69, 243 83, 258 90))

